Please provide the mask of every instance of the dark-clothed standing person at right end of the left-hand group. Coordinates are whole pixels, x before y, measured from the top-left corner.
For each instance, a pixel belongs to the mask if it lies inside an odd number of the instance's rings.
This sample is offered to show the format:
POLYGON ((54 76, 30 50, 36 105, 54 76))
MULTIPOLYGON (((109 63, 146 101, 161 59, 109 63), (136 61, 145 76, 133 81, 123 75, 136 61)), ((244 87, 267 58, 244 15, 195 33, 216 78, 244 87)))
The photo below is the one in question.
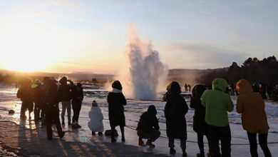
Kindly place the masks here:
POLYGON ((76 86, 73 86, 72 91, 72 100, 71 104, 73 106, 73 125, 72 128, 81 128, 78 124, 79 113, 81 111, 81 104, 83 101, 83 88, 81 83, 77 83, 76 86))

